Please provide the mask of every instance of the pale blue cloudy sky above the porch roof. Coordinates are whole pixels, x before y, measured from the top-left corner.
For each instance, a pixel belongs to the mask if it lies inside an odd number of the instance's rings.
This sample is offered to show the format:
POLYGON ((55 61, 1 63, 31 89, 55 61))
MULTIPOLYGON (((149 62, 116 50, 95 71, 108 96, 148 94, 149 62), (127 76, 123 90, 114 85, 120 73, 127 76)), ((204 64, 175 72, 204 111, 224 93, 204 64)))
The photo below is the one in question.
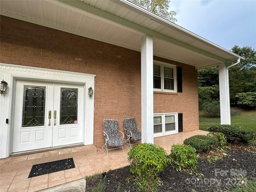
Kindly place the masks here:
POLYGON ((171 0, 177 25, 231 50, 256 49, 256 0, 171 0))

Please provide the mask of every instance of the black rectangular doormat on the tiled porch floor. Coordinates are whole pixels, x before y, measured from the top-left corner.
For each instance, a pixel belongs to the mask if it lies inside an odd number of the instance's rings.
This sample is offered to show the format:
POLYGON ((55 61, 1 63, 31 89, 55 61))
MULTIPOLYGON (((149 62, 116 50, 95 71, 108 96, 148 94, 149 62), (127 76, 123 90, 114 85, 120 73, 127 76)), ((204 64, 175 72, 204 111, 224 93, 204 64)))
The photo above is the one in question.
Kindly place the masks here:
POLYGON ((75 168, 73 158, 33 165, 28 178, 75 168))

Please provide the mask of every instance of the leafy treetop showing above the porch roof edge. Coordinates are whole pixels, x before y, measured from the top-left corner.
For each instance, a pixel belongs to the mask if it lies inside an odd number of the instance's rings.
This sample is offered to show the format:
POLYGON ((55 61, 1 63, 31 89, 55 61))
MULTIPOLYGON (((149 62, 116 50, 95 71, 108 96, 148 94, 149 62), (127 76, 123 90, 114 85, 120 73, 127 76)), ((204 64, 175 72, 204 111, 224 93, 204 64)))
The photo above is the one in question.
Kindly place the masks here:
POLYGON ((177 19, 174 18, 174 16, 176 15, 176 12, 169 11, 170 0, 129 0, 129 1, 173 23, 177 21, 177 19))

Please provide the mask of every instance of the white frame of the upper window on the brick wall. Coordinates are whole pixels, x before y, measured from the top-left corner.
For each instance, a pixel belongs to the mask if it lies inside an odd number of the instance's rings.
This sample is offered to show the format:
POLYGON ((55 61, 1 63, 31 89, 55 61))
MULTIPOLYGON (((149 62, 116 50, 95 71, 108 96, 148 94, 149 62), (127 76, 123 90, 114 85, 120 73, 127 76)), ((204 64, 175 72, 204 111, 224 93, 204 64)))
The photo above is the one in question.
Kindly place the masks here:
MULTIPOLYGON (((172 93, 176 93, 177 92, 177 75, 176 75, 176 70, 177 70, 177 66, 172 65, 170 63, 165 63, 165 62, 161 62, 161 61, 155 61, 153 62, 153 65, 158 65, 161 66, 161 89, 156 89, 154 88, 154 91, 162 91, 162 92, 172 92, 172 93), (173 69, 173 80, 174 80, 174 90, 166 90, 164 89, 164 67, 169 67, 173 69)), ((154 75, 153 75, 154 78, 154 75)))

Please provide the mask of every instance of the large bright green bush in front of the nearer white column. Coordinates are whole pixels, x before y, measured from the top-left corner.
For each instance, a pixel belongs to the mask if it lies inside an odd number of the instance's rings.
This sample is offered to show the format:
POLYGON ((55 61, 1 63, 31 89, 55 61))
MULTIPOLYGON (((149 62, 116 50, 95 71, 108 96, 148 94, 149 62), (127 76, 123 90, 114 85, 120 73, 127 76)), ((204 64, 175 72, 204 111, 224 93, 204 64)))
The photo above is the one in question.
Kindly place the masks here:
POLYGON ((130 173, 141 190, 156 191, 161 184, 158 174, 167 166, 168 158, 162 147, 141 143, 134 146, 128 153, 130 173))

